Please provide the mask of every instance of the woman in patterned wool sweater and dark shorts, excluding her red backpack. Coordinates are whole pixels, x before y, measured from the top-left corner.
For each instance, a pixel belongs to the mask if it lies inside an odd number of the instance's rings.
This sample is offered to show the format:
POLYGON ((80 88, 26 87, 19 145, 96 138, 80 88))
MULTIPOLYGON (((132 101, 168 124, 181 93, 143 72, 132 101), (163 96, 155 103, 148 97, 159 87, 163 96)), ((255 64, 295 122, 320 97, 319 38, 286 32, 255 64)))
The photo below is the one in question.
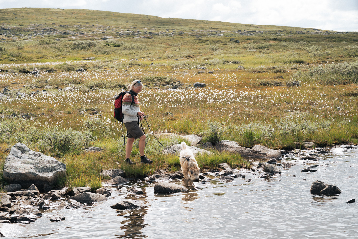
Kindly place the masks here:
POLYGON ((151 164, 153 161, 145 157, 144 147, 145 147, 145 134, 139 127, 139 120, 142 120, 144 113, 139 110, 139 101, 138 93, 142 90, 143 84, 139 80, 133 81, 129 86, 129 92, 134 96, 132 102, 132 95, 127 93, 123 96, 122 99, 122 113, 123 113, 123 123, 127 128, 127 144, 126 144, 126 163, 134 164, 130 159, 130 155, 133 148, 134 140, 139 138, 139 152, 140 152, 140 162, 151 164))

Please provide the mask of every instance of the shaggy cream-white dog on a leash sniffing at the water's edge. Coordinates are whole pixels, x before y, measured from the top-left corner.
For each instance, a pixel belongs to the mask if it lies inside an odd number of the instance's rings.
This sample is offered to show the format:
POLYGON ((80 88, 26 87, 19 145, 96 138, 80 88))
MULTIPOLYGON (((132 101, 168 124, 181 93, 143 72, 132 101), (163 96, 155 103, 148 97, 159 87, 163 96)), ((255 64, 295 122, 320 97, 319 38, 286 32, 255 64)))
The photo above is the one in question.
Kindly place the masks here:
POLYGON ((187 180, 198 181, 200 168, 198 167, 198 163, 195 160, 192 150, 187 147, 185 142, 182 142, 182 151, 180 151, 179 156, 184 178, 187 180))

